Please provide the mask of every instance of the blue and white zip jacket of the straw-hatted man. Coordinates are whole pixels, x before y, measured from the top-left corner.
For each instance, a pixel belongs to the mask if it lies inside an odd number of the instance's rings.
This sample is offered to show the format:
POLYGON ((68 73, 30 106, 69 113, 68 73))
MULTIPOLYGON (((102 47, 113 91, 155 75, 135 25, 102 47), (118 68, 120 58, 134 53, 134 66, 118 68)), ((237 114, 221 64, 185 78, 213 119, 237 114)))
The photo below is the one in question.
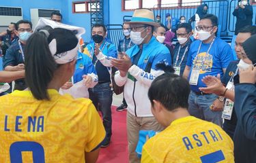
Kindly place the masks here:
MULTIPOLYGON (((139 46, 132 46, 126 51, 131 58, 139 52, 139 46)), ((164 62, 165 65, 171 65, 171 54, 166 46, 156 41, 152 37, 149 43, 143 44, 141 57, 137 65, 132 65, 128 70, 126 77, 121 77, 119 71, 115 74, 115 82, 118 86, 124 86, 124 98, 128 105, 128 111, 138 117, 152 117, 150 100, 147 97, 148 89, 153 80, 164 73, 156 68, 156 65, 164 62), (147 65, 151 65, 147 67, 147 65), (145 69, 149 68, 149 71, 145 69)))

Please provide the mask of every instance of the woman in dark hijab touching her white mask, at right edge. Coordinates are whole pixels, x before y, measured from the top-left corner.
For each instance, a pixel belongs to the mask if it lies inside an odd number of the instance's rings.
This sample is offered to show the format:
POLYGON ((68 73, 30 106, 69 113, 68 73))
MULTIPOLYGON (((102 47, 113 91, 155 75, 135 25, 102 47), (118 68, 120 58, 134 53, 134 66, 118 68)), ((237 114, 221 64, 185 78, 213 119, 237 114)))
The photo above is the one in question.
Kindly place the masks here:
POLYGON ((235 85, 238 124, 233 137, 236 162, 256 162, 256 35, 242 43, 242 65, 235 85))

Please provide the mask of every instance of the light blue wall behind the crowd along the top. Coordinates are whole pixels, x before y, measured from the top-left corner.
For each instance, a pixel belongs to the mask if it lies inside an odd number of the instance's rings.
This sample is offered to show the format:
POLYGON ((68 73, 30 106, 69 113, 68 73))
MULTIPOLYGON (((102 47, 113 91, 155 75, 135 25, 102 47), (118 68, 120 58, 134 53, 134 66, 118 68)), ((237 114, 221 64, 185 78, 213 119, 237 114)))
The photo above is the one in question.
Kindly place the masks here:
MULTIPOLYGON (((63 14, 63 22, 67 24, 72 24, 75 26, 84 27, 86 30, 86 33, 85 35, 83 35, 83 39, 84 41, 89 41, 91 37, 90 14, 89 13, 73 14, 72 2, 74 1, 82 1, 82 0, 54 0, 54 1, 53 0, 44 0, 44 1, 42 0, 38 0, 38 1, 36 0, 6 0, 6 1, 0 0, 0 6, 22 7, 23 18, 28 20, 30 20, 31 8, 61 10, 61 14, 63 14)), ((229 0, 229 1, 232 1, 232 0, 229 0)), ((226 7, 225 5, 222 6, 220 4, 219 10, 221 11, 225 10, 225 7, 226 7)), ((253 23, 254 23, 256 5, 253 5, 253 9, 254 9, 253 23)), ((186 13, 186 12, 181 12, 180 14, 186 13)), ((233 10, 231 10, 231 12, 233 12, 233 10)), ((122 11, 122 0, 104 0, 104 23, 105 24, 122 24, 123 17, 132 16, 132 14, 133 12, 130 12, 130 11, 129 12, 122 11)), ((219 19, 222 20, 222 18, 219 18, 219 19)), ((230 22, 232 23, 233 21, 236 21, 236 19, 231 17, 230 22)))

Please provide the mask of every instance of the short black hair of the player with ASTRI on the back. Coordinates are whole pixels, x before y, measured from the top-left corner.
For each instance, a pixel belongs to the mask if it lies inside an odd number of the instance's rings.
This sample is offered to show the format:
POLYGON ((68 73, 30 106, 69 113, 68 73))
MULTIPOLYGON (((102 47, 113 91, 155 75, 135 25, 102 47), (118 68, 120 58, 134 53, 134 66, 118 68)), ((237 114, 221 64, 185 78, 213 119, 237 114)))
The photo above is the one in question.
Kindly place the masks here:
POLYGON ((148 91, 150 102, 160 102, 168 111, 178 107, 188 108, 188 95, 190 86, 188 81, 174 73, 164 73, 152 82, 148 91))

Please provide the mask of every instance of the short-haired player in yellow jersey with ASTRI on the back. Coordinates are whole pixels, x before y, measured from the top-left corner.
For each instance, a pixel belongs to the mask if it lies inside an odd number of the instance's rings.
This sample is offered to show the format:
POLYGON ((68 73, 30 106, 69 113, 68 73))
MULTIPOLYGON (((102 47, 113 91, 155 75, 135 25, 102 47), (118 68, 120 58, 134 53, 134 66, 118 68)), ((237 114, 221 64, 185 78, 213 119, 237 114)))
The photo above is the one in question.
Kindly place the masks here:
POLYGON ((216 124, 189 115, 189 84, 165 73, 157 77, 148 96, 152 113, 165 130, 143 146, 141 162, 234 162, 233 141, 216 124))

